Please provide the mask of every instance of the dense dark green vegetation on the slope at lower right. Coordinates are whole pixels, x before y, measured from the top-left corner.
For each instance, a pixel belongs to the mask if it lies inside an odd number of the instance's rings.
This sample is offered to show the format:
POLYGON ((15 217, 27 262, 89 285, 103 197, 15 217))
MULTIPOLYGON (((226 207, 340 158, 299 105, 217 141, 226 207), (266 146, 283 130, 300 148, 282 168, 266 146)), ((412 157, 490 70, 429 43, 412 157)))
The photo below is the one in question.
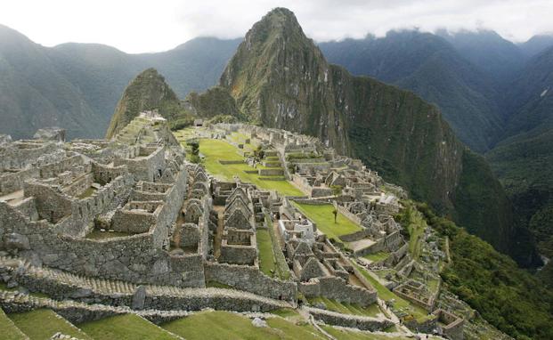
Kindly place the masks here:
POLYGON ((450 239, 452 263, 442 279, 452 293, 510 336, 553 338, 553 294, 538 279, 426 204, 417 207, 432 228, 450 239))

